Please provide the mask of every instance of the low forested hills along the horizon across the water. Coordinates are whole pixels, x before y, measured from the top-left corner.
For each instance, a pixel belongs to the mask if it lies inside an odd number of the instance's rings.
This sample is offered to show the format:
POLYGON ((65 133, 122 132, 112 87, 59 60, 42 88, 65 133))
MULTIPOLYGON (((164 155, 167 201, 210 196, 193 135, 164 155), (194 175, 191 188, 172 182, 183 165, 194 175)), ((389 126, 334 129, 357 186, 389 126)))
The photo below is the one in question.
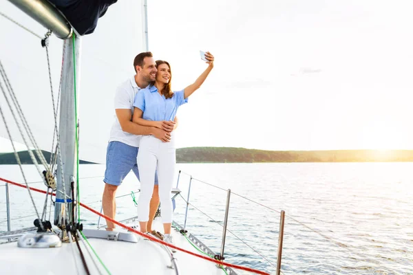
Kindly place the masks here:
MULTIPOLYGON (((43 151, 45 158, 50 153, 43 151)), ((23 164, 32 164, 27 151, 19 152, 23 164)), ((413 162, 412 150, 264 151, 231 147, 178 148, 176 161, 191 162, 413 162)), ((81 164, 92 164, 81 160, 81 164)), ((17 164, 14 153, 0 153, 0 164, 17 164)))

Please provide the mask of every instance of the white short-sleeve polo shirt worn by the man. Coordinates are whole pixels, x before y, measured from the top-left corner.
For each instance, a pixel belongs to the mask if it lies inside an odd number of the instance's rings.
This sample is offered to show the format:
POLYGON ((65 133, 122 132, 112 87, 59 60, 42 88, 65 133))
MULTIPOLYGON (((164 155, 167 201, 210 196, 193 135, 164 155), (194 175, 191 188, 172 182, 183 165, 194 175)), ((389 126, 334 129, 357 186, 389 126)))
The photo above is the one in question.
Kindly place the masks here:
MULTIPOLYGON (((134 99, 140 87, 136 85, 135 76, 129 78, 116 89, 115 109, 130 109, 134 115, 134 99)), ((139 147, 141 135, 134 135, 122 130, 118 116, 115 114, 115 122, 110 131, 109 142, 123 142, 129 146, 139 147)))

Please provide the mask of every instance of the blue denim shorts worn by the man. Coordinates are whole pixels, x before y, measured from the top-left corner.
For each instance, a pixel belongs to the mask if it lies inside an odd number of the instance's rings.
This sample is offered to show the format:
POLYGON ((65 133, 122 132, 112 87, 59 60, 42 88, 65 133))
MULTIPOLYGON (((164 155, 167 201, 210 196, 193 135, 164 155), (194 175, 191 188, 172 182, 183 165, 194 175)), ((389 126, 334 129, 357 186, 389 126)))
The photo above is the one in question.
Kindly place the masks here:
MULTIPOLYGON (((132 170, 139 179, 138 157, 139 148, 129 146, 123 142, 109 142, 106 151, 105 179, 107 184, 119 186, 123 179, 132 170)), ((158 185, 158 173, 155 172, 155 185, 158 185)))

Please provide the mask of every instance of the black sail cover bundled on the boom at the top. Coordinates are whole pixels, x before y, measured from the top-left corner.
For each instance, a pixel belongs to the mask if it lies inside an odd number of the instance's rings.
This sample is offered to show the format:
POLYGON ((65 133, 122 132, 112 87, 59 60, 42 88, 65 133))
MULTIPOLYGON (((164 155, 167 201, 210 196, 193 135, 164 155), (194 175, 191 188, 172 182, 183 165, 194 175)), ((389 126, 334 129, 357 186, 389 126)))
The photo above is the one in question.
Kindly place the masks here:
POLYGON ((92 34, 98 19, 105 15, 109 5, 118 0, 49 0, 66 17, 80 35, 92 34))

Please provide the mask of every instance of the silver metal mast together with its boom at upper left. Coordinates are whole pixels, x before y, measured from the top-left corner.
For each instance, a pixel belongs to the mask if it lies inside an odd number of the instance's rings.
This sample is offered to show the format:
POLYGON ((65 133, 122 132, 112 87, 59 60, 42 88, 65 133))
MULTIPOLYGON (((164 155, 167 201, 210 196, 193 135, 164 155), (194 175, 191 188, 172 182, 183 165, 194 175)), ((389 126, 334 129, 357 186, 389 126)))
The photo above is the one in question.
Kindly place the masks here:
MULTIPOLYGON (((76 194, 76 122, 75 88, 80 75, 80 39, 72 37, 72 28, 59 10, 45 0, 9 0, 47 30, 63 39, 63 71, 60 102, 59 144, 57 164, 56 203, 54 203, 54 225, 64 229, 76 221, 72 214, 72 188, 76 194), (76 75, 75 75, 76 74, 76 75), (76 83, 75 83, 76 82, 76 83), (73 186, 73 187, 72 187, 73 186)), ((78 93, 78 89, 76 89, 78 93)))

